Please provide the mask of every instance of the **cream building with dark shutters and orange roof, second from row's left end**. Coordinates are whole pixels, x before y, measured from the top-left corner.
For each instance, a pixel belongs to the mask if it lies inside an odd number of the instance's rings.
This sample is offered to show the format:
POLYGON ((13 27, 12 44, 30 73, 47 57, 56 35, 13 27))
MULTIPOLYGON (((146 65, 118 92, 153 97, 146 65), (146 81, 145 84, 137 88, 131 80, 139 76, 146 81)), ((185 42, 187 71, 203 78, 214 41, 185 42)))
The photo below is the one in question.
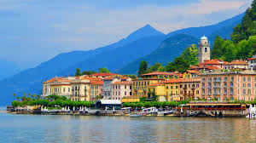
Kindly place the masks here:
POLYGON ((102 81, 100 77, 83 77, 71 82, 71 100, 90 100, 90 84, 102 81))

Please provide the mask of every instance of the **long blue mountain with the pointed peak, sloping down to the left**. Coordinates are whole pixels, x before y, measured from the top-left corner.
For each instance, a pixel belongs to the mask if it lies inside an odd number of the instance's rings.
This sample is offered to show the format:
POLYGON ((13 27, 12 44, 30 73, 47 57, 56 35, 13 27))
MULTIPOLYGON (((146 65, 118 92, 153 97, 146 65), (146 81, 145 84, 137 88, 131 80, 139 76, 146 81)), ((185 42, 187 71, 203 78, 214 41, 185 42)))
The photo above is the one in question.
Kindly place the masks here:
POLYGON ((107 66, 111 70, 125 66, 137 57, 157 49, 166 35, 146 25, 117 43, 89 51, 73 51, 56 55, 35 68, 27 69, 0 81, 0 105, 14 100, 12 94, 40 94, 42 82, 55 76, 73 75, 75 68, 98 70, 107 66), (146 44, 145 44, 146 43, 146 44), (131 52, 134 51, 134 52, 131 52), (125 59, 124 59, 125 57, 125 59))

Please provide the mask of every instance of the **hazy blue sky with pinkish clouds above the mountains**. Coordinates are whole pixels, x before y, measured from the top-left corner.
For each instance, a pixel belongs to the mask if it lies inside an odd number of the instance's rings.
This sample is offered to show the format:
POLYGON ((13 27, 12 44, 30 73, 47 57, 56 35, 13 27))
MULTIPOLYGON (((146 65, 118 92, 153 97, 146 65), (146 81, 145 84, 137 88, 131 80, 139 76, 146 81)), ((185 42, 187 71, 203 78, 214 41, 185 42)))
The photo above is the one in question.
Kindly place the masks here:
POLYGON ((0 0, 0 60, 20 69, 96 49, 147 24, 168 33, 244 12, 252 0, 0 0))

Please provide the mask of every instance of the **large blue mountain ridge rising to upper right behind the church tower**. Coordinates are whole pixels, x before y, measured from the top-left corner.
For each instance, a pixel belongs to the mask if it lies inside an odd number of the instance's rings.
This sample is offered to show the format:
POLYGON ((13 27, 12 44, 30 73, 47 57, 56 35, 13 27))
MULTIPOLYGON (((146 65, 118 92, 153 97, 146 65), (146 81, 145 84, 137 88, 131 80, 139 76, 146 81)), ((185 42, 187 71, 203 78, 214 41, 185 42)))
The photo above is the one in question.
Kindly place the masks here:
POLYGON ((241 19, 244 15, 245 13, 238 14, 233 18, 221 21, 212 26, 190 27, 172 31, 167 34, 166 40, 163 41, 163 43, 160 44, 160 47, 154 52, 132 61, 116 72, 121 74, 137 74, 141 60, 148 61, 149 66, 152 66, 157 62, 166 65, 168 62, 174 60, 177 55, 181 54, 186 46, 188 47, 191 43, 197 44, 199 39, 204 34, 208 37, 210 43, 214 43, 214 38, 216 35, 230 39, 230 34, 233 31, 233 27, 241 23, 241 19))

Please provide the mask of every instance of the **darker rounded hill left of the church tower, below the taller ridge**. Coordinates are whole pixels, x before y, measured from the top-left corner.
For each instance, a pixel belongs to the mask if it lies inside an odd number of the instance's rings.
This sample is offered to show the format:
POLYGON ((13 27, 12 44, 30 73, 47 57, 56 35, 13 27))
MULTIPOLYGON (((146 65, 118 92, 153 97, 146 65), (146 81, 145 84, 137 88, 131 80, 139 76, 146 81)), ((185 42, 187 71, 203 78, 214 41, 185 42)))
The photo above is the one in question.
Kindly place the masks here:
POLYGON ((124 66, 116 72, 121 74, 137 74, 141 60, 146 60, 148 62, 148 66, 154 65, 154 63, 161 63, 165 66, 168 64, 168 62, 174 60, 179 54, 181 54, 184 49, 189 47, 190 44, 198 43, 198 41, 198 38, 185 34, 173 35, 172 37, 166 38, 160 44, 159 48, 155 49, 151 54, 132 61, 130 64, 124 66))

